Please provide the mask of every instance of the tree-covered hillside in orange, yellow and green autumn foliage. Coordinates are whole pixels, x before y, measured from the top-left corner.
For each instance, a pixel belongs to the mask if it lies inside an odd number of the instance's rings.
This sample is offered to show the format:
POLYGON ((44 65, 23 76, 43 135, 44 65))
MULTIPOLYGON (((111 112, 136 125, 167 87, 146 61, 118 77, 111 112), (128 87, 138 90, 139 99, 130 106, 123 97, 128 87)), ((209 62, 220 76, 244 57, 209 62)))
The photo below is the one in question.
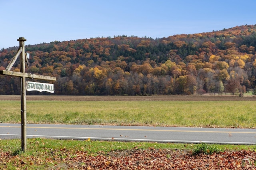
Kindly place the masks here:
MULTIPOLYGON (((55 41, 25 46, 26 72, 56 77, 54 95, 242 94, 256 85, 255 47, 256 25, 156 39, 55 41)), ((17 49, 0 51, 0 70, 17 49)), ((19 68, 16 61, 12 70, 19 68)), ((0 75, 0 94, 20 94, 20 79, 0 75)))

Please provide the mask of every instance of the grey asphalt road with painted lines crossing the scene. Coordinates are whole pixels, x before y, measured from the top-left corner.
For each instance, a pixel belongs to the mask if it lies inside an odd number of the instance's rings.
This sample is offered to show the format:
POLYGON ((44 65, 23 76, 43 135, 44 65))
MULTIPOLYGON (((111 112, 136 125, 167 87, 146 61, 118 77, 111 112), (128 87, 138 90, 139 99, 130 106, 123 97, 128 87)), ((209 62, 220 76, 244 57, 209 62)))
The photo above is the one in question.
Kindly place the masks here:
MULTIPOLYGON (((27 124, 27 138, 256 144, 256 129, 27 124)), ((0 124, 0 139, 21 138, 20 124, 0 124)))

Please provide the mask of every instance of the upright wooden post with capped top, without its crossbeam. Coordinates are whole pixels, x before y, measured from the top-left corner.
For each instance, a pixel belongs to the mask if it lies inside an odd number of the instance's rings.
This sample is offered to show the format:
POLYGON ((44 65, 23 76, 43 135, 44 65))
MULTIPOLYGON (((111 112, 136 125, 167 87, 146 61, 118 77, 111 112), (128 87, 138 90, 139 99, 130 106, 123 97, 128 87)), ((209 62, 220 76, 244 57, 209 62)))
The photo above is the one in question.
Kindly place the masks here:
MULTIPOLYGON (((25 38, 18 39, 22 52, 20 53, 20 72, 25 73, 25 38)), ((21 148, 23 152, 27 149, 27 115, 26 115, 26 77, 20 77, 20 103, 21 103, 21 148)))

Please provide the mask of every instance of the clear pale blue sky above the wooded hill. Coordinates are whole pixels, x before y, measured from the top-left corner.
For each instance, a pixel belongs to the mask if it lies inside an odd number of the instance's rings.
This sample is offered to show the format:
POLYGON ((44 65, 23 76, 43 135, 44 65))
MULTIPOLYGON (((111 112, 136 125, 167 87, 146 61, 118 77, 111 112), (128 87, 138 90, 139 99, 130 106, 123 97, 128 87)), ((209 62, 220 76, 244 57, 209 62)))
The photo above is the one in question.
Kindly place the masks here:
POLYGON ((0 0, 0 49, 96 37, 163 38, 256 24, 256 0, 0 0))

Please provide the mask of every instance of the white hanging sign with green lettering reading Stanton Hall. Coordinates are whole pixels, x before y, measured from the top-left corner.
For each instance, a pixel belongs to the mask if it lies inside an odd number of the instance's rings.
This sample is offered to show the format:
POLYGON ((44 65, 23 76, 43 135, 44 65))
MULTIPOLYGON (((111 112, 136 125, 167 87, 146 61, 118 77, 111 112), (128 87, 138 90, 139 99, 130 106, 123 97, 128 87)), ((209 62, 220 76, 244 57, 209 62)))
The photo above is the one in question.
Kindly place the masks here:
POLYGON ((54 93, 54 84, 26 81, 26 90, 54 93))

